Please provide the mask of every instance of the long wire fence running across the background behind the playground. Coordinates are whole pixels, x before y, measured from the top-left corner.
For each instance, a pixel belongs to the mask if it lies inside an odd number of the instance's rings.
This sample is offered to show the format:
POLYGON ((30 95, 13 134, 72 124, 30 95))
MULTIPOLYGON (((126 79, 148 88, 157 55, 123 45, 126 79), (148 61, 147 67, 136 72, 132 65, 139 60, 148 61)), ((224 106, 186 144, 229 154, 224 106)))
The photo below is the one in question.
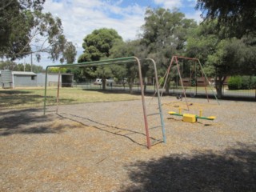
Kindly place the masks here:
MULTIPOLYGON (((40 85, 43 87, 42 85, 40 85)), ((22 84, 22 86, 16 86, 17 88, 22 87, 30 87, 30 89, 33 89, 34 87, 40 87, 35 86, 31 84, 22 84)), ((49 82, 47 84, 48 87, 57 87, 58 82, 49 82)), ((156 91, 156 87, 152 84, 144 85, 144 91, 145 94, 154 94, 156 91)), ((78 89, 84 89, 84 90, 103 90, 102 84, 95 84, 93 80, 89 80, 86 82, 72 82, 72 83, 65 83, 61 82, 60 87, 74 87, 78 89)), ((2 87, 4 88, 4 87, 2 87)), ((7 89, 10 89, 11 87, 6 87, 7 89)), ((214 94, 217 95, 217 92, 214 87, 207 86, 206 89, 203 86, 185 86, 185 94, 186 97, 206 97, 206 94, 209 95, 209 97, 214 97, 214 94)), ((137 93, 141 92, 141 87, 139 84, 134 83, 131 87, 128 86, 128 84, 121 84, 121 83, 106 83, 105 90, 113 90, 113 91, 125 91, 127 93, 137 93)), ((174 84, 170 85, 169 91, 166 91, 165 89, 160 89, 160 92, 165 95, 179 95, 184 94, 182 90, 182 86, 176 86, 174 84)), ((250 101, 256 101, 256 90, 229 90, 228 86, 222 87, 222 98, 229 98, 229 99, 241 99, 241 100, 250 100, 250 101)))

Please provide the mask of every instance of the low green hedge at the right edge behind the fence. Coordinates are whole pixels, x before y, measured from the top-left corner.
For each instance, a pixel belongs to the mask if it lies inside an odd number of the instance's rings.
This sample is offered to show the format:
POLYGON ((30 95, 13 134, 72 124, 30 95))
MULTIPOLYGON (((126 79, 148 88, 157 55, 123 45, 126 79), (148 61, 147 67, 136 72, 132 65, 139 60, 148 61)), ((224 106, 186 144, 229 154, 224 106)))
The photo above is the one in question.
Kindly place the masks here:
POLYGON ((229 90, 251 90, 256 89, 255 76, 233 76, 227 82, 229 90))

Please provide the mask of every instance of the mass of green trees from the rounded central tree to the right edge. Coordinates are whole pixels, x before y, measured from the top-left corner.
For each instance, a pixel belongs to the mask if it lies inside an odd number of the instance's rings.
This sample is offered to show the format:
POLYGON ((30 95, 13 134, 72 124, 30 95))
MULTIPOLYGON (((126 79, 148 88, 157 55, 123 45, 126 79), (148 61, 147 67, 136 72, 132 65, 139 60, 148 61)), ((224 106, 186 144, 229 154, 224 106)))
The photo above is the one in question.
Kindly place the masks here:
MULTIPOLYGON (((113 29, 94 30, 83 39, 84 53, 78 62, 127 56, 154 58, 158 75, 162 77, 173 55, 199 58, 207 76, 214 78, 218 98, 221 98, 227 77, 256 74, 256 2, 198 0, 196 8, 206 16, 200 24, 185 18, 185 14, 176 9, 148 8, 142 33, 133 41, 124 42, 113 29)), ((180 65, 185 69, 188 62, 182 61, 180 65)), ((136 73, 136 67, 127 64, 85 68, 80 75, 102 78, 103 85, 106 78, 128 78, 131 88, 136 73)), ((153 77, 151 66, 143 65, 142 73, 153 77)), ((184 70, 184 73, 188 72, 184 70)), ((177 74, 170 75, 167 91, 176 77, 177 74)))

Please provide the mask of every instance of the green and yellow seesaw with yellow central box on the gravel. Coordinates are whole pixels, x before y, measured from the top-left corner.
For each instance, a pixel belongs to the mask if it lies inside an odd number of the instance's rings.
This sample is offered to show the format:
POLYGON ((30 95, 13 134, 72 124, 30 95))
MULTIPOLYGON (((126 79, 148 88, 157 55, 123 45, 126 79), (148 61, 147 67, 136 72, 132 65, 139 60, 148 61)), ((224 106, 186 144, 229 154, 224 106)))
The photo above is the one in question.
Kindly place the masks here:
POLYGON ((183 122, 197 122, 198 118, 201 119, 205 119, 205 120, 214 120, 216 117, 214 116, 209 116, 209 117, 203 117, 202 116, 202 110, 200 110, 200 114, 196 115, 196 114, 182 114, 182 109, 179 108, 178 109, 178 113, 174 112, 174 111, 169 111, 168 114, 170 115, 176 115, 176 116, 182 116, 182 120, 183 122))

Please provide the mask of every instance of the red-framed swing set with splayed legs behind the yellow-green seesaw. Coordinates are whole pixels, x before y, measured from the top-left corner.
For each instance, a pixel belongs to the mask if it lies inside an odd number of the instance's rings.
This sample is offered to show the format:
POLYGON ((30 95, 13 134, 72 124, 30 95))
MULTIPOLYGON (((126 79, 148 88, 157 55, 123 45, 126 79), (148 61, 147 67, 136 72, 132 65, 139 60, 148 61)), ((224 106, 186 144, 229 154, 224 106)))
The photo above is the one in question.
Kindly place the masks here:
MULTIPOLYGON (((210 89, 212 90, 212 92, 214 94, 214 98, 218 102, 218 98, 217 98, 216 94, 214 93, 214 89, 211 86, 210 81, 206 77, 206 74, 202 69, 202 64, 201 64, 201 62, 199 61, 198 58, 186 58, 186 57, 182 57, 182 56, 173 56, 171 58, 170 65, 169 65, 168 69, 166 70, 166 74, 163 77, 165 79, 163 87, 166 87, 166 82, 167 82, 167 79, 169 77, 171 67, 174 66, 174 65, 176 65, 177 73, 178 73, 176 82, 178 83, 178 78, 179 78, 179 82, 182 86, 182 94, 177 94, 176 97, 178 99, 181 99, 181 100, 182 100, 182 98, 185 98, 187 110, 190 110, 190 108, 189 108, 189 104, 188 104, 187 99, 186 99, 186 94, 187 94, 186 90, 188 89, 188 86, 190 86, 190 97, 195 97, 196 96, 196 94, 197 94, 197 85, 198 85, 198 74, 201 74, 202 81, 200 81, 200 82, 202 83, 202 85, 204 86, 204 90, 206 91, 207 101, 209 102, 209 95, 208 95, 208 92, 207 92, 207 86, 209 85, 210 89), (181 60, 181 59, 182 59, 182 70, 181 70, 181 65, 179 64, 179 60, 181 60), (190 78, 187 78, 188 81, 184 81, 184 78, 182 78, 183 70, 184 70, 184 67, 185 67, 184 60, 185 61, 190 61, 190 78), (192 65, 192 62, 194 62, 194 66, 192 65), (197 63, 198 63, 198 67, 196 65, 197 63), (198 70, 199 70, 199 72, 198 72, 198 70), (184 85, 184 82, 186 83, 186 86, 184 85), (195 87, 195 92, 194 93, 192 93, 192 91, 191 91, 192 86, 195 87)), ((161 96, 162 96, 162 93, 163 93, 163 90, 161 92, 161 96)), ((219 104, 219 102, 218 102, 218 104, 219 104)))

